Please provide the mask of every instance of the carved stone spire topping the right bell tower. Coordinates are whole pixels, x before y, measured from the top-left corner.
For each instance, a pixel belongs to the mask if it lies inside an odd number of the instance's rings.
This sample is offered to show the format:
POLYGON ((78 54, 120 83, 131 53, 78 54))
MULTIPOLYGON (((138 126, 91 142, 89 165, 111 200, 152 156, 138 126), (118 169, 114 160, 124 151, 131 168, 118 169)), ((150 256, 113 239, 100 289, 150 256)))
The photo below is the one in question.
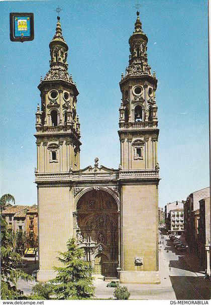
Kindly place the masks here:
POLYGON ((147 62, 147 42, 148 38, 142 30, 142 23, 139 18, 139 11, 137 12, 137 19, 135 22, 135 31, 129 39, 130 56, 129 66, 126 68, 126 75, 139 76, 150 75, 151 67, 147 62))

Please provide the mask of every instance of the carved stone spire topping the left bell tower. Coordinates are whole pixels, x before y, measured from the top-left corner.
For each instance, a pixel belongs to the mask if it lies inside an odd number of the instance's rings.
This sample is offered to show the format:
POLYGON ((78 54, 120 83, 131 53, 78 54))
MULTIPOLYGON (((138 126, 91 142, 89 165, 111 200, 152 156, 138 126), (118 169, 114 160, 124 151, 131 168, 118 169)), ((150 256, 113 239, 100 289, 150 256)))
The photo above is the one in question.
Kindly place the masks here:
POLYGON ((68 46, 62 36, 60 17, 57 17, 56 33, 49 44, 50 48, 50 70, 47 72, 44 80, 64 80, 73 83, 72 78, 67 72, 67 51, 68 46))

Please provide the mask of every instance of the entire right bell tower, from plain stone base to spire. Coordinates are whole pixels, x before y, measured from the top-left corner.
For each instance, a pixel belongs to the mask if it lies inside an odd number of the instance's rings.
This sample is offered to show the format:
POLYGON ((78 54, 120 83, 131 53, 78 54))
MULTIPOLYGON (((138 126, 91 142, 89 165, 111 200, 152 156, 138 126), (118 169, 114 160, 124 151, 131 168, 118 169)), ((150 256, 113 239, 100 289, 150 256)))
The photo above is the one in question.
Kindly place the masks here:
POLYGON ((157 79, 147 59, 148 38, 137 12, 120 89, 123 283, 158 283, 157 79))

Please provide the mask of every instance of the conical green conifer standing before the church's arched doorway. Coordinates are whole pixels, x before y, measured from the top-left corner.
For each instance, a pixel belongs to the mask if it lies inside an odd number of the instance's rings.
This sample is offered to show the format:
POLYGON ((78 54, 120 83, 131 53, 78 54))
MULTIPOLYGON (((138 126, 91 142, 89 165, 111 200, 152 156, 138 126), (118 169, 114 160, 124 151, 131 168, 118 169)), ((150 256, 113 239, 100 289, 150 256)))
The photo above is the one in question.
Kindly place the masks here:
POLYGON ((52 280, 54 293, 59 299, 87 299, 93 296, 94 286, 91 277, 92 268, 84 261, 84 251, 77 248, 75 239, 67 242, 67 252, 59 252, 58 260, 64 267, 55 267, 58 272, 52 280))

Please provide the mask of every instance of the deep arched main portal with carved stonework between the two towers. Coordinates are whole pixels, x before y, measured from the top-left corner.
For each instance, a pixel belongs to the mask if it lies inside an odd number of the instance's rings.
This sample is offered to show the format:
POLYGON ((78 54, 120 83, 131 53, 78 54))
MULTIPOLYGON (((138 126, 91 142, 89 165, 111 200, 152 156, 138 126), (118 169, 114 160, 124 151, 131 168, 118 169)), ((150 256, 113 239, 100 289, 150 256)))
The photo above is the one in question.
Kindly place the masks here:
POLYGON ((77 202, 75 236, 94 274, 116 277, 118 267, 118 206, 104 190, 89 190, 77 202))

